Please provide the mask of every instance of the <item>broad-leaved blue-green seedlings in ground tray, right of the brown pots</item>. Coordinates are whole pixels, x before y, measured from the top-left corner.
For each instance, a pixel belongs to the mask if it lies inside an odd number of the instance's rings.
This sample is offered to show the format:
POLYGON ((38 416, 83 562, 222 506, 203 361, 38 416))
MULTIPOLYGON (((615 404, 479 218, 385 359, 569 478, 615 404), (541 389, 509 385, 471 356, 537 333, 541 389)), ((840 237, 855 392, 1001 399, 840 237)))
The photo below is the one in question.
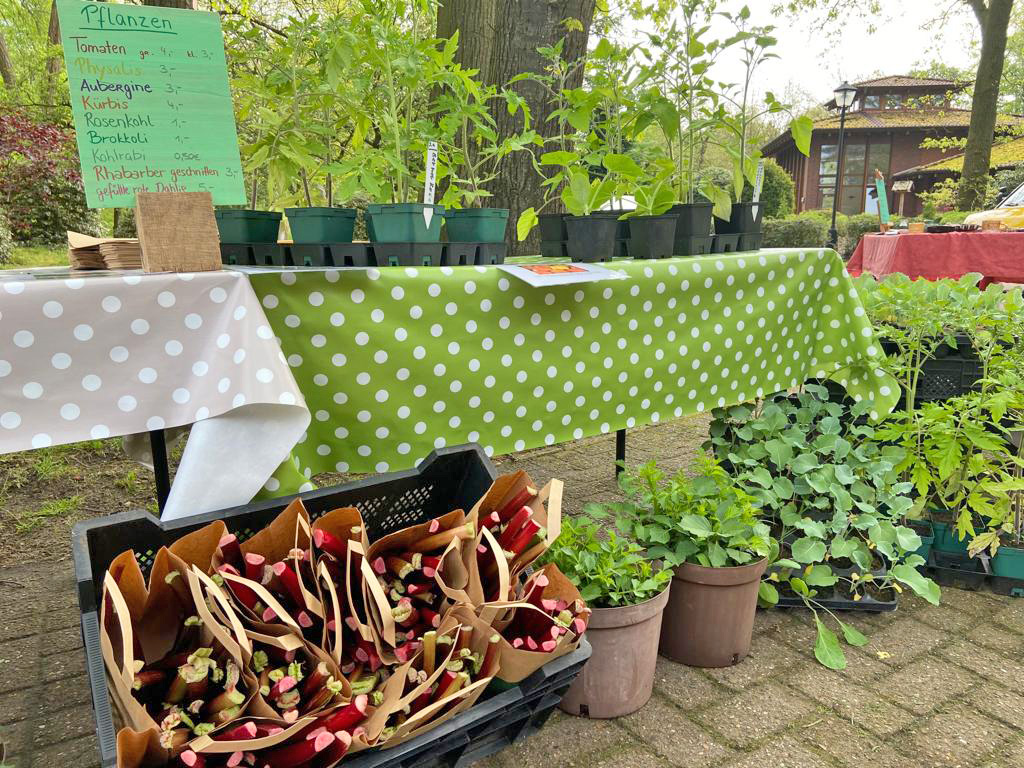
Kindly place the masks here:
POLYGON ((706 447, 727 462, 772 530, 770 565, 760 598, 775 604, 784 586, 814 611, 815 655, 826 667, 846 665, 837 623, 852 645, 866 642, 819 601, 839 589, 854 601, 904 587, 934 604, 939 589, 919 568, 921 538, 904 525, 912 506, 898 465, 904 452, 882 442, 867 421, 872 403, 828 400, 824 387, 795 395, 716 409, 706 447))

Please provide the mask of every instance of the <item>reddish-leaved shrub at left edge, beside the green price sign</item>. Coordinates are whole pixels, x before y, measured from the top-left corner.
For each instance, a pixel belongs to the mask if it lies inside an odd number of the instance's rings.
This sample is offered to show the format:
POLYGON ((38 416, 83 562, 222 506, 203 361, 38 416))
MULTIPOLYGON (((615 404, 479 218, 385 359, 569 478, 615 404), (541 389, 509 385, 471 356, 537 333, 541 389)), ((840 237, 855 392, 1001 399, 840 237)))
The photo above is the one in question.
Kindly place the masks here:
POLYGON ((67 229, 98 233, 72 131, 20 113, 0 115, 0 207, 18 243, 58 245, 67 229))

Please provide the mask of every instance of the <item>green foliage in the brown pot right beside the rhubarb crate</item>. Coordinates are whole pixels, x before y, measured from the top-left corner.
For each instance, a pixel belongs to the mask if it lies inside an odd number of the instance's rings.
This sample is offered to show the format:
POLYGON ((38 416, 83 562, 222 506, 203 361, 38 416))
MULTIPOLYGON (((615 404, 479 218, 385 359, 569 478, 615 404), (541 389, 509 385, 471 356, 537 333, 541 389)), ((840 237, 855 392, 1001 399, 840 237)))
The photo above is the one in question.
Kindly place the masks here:
POLYGON ((596 608, 635 605, 660 594, 672 570, 654 569, 635 542, 623 539, 593 518, 562 518, 562 529, 543 558, 553 562, 596 608))

